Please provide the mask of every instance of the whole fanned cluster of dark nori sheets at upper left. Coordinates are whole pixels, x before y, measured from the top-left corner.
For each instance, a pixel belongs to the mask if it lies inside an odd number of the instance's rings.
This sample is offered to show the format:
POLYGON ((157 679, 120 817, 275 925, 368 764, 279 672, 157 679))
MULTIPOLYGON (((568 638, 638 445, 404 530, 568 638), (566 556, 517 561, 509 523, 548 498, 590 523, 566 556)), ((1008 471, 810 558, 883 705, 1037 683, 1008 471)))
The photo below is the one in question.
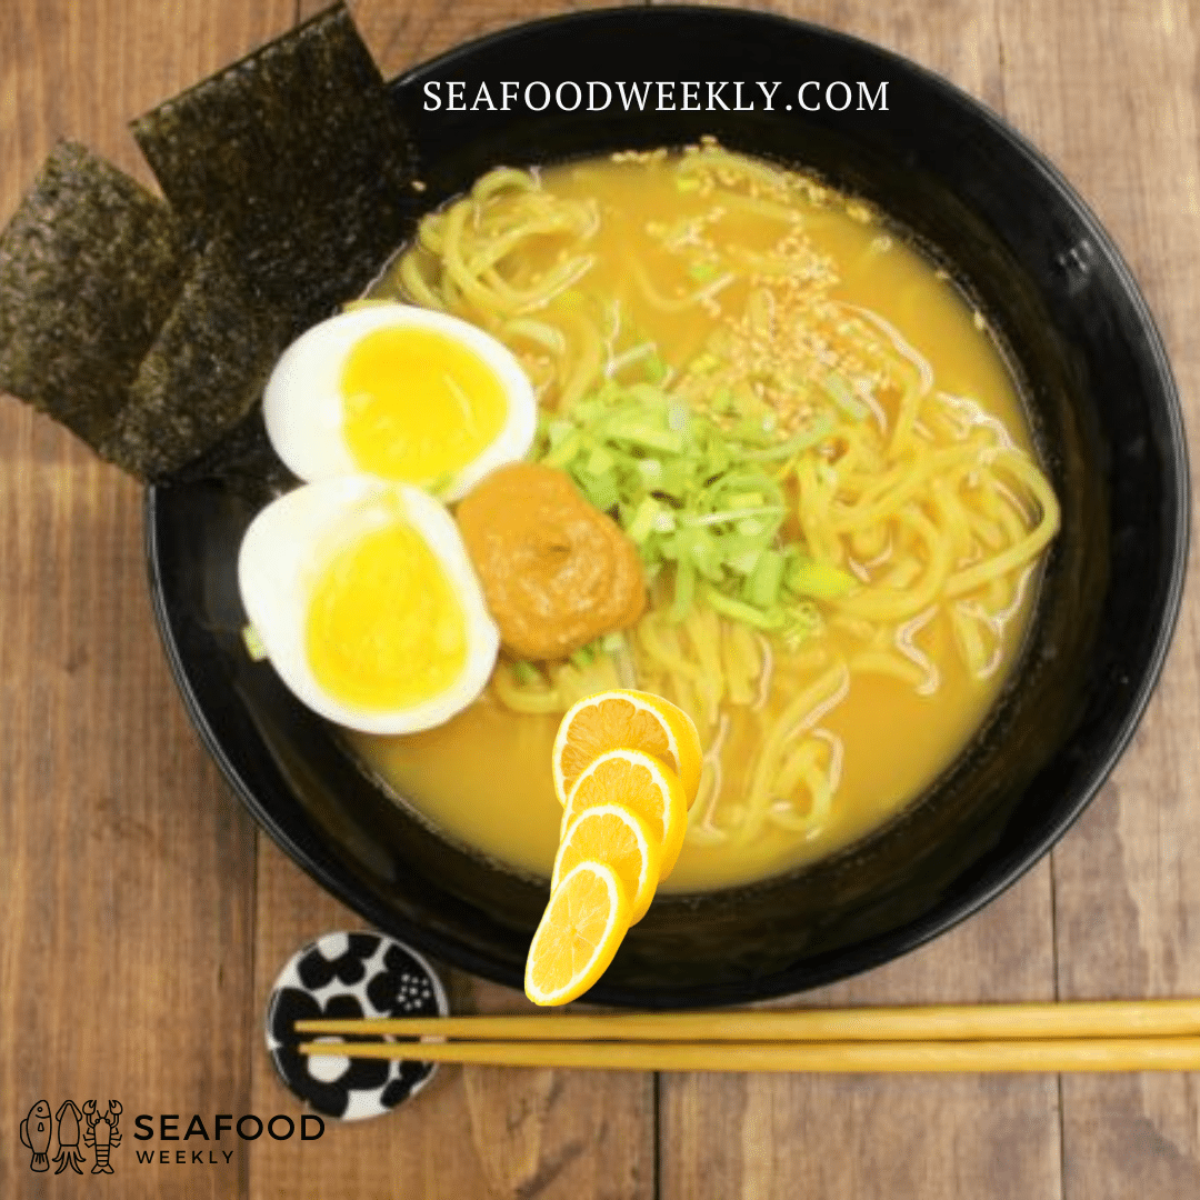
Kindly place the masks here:
POLYGON ((342 6, 133 131, 167 204, 66 143, 0 234, 0 386, 142 479, 283 484, 252 409, 410 235, 410 140, 342 6))

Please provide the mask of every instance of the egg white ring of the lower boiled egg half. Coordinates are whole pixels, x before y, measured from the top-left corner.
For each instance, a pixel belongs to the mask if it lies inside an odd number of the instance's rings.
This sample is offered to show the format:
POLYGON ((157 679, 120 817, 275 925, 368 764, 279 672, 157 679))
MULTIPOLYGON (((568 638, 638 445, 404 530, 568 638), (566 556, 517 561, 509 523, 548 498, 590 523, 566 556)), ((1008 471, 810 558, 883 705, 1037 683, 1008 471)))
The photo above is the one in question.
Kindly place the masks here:
POLYGON ((474 569, 446 509, 420 488, 370 475, 319 480, 274 500, 251 522, 238 556, 242 605, 271 665, 316 713, 366 733, 415 733, 449 720, 487 683, 500 638, 474 569), (444 691, 418 704, 379 712, 347 704, 318 683, 308 664, 305 626, 324 566, 358 538, 407 521, 440 563, 462 605, 467 660, 444 691))

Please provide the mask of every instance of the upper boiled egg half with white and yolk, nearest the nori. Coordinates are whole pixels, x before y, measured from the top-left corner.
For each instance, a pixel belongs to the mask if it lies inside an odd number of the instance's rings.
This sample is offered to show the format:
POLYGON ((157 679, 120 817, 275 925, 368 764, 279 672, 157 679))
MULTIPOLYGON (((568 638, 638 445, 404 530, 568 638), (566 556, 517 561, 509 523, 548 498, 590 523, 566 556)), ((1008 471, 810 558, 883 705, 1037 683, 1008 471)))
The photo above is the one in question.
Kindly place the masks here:
POLYGON ((263 396, 304 480, 366 473, 456 500, 524 456, 536 402, 511 352, 446 313, 367 302, 302 334, 263 396))

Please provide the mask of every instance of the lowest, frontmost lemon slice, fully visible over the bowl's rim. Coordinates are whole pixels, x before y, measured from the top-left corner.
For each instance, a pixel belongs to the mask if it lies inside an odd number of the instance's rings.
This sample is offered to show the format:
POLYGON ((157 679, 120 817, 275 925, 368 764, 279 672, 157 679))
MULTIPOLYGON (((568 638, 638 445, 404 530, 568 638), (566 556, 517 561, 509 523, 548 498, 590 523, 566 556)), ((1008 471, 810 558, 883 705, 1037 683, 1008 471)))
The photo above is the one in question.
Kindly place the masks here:
POLYGON ((551 893, 526 959, 526 995, 535 1004, 582 996, 612 962, 629 929, 629 899, 607 863, 581 862, 551 893))

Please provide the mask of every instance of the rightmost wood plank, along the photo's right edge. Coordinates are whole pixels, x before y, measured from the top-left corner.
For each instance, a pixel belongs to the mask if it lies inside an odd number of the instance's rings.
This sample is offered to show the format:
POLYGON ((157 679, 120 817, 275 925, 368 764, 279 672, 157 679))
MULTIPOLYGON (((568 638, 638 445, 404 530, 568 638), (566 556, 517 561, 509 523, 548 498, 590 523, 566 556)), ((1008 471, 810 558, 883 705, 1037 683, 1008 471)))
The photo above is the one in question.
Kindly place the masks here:
MULTIPOLYGON (((1118 0, 1080 20, 1068 0, 1013 4, 1001 13, 1001 37, 1009 115, 1066 170, 1128 258, 1158 318, 1194 433, 1194 10, 1181 0, 1153 11, 1118 0)), ((1132 748, 1054 853, 1063 998, 1200 990, 1194 570, 1192 580, 1168 668, 1132 748)), ((1200 1193, 1194 1076, 1064 1076, 1062 1094, 1068 1200, 1200 1193)))

